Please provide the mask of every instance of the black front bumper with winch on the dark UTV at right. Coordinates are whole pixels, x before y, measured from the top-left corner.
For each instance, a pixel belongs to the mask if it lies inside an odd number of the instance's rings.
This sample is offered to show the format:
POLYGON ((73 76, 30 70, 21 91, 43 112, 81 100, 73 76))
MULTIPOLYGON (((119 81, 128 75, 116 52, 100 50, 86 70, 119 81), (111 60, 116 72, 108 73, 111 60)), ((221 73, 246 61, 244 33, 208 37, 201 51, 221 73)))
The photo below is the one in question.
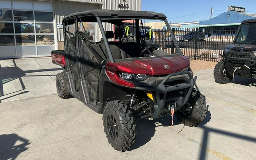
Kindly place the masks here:
POLYGON ((256 65, 256 60, 238 57, 225 57, 225 68, 229 75, 240 76, 244 78, 254 78, 252 67, 256 65), (239 68, 235 71, 236 68, 239 68), (235 71, 235 72, 234 72, 235 71))

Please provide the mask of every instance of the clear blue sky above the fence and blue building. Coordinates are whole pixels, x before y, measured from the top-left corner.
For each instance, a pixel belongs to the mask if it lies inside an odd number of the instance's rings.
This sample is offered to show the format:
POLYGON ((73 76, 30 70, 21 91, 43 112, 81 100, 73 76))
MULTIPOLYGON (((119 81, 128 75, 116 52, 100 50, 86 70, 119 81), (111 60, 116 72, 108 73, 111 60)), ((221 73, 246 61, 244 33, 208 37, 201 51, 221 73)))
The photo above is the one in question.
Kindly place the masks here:
POLYGON ((143 11, 161 12, 171 23, 210 19, 228 10, 228 6, 240 6, 246 13, 256 14, 256 0, 141 0, 143 11), (187 16, 189 15, 189 16, 187 16))

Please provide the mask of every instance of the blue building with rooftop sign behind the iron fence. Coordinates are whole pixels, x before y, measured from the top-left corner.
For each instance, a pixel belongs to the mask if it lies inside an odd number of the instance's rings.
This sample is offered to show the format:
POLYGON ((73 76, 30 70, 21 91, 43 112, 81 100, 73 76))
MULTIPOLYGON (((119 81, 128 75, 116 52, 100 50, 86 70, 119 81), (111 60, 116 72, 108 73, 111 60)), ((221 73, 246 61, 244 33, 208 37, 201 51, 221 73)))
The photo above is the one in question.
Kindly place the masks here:
POLYGON ((209 19, 199 21, 199 30, 211 34, 235 34, 243 20, 254 19, 256 14, 245 13, 245 8, 228 6, 228 11, 209 19))

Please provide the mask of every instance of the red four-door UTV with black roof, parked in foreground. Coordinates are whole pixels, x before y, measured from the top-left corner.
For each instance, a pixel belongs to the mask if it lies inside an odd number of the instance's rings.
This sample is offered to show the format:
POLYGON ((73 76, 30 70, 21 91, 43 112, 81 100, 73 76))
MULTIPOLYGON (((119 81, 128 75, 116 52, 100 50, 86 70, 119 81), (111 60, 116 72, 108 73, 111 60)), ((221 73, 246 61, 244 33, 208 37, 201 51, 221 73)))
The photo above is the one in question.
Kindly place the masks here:
POLYGON ((182 55, 164 14, 78 12, 63 19, 63 31, 65 50, 52 51, 52 62, 63 67, 56 77, 58 96, 73 96, 103 113, 104 131, 116 150, 131 148, 138 119, 171 113, 173 117, 175 111, 181 123, 196 126, 206 117, 205 97, 194 88, 196 77, 193 78, 190 61, 182 55), (172 54, 146 45, 145 36, 140 33, 142 19, 165 22, 175 45, 172 54), (134 20, 136 42, 113 41, 115 34, 125 34, 121 29, 125 20, 134 20), (118 33, 110 31, 113 25, 119 26, 118 33), (94 30, 100 31, 100 40, 94 30))

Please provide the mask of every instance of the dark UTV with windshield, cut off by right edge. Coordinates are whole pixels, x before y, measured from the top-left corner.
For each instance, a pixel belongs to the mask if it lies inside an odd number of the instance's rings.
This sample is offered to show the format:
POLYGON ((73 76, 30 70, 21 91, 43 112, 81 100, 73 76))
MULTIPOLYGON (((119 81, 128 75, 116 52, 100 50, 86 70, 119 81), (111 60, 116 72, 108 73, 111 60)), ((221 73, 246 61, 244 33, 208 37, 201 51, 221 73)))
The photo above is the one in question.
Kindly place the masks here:
POLYGON ((233 44, 221 56, 214 68, 217 83, 229 83, 234 76, 256 79, 256 19, 241 23, 233 44))

